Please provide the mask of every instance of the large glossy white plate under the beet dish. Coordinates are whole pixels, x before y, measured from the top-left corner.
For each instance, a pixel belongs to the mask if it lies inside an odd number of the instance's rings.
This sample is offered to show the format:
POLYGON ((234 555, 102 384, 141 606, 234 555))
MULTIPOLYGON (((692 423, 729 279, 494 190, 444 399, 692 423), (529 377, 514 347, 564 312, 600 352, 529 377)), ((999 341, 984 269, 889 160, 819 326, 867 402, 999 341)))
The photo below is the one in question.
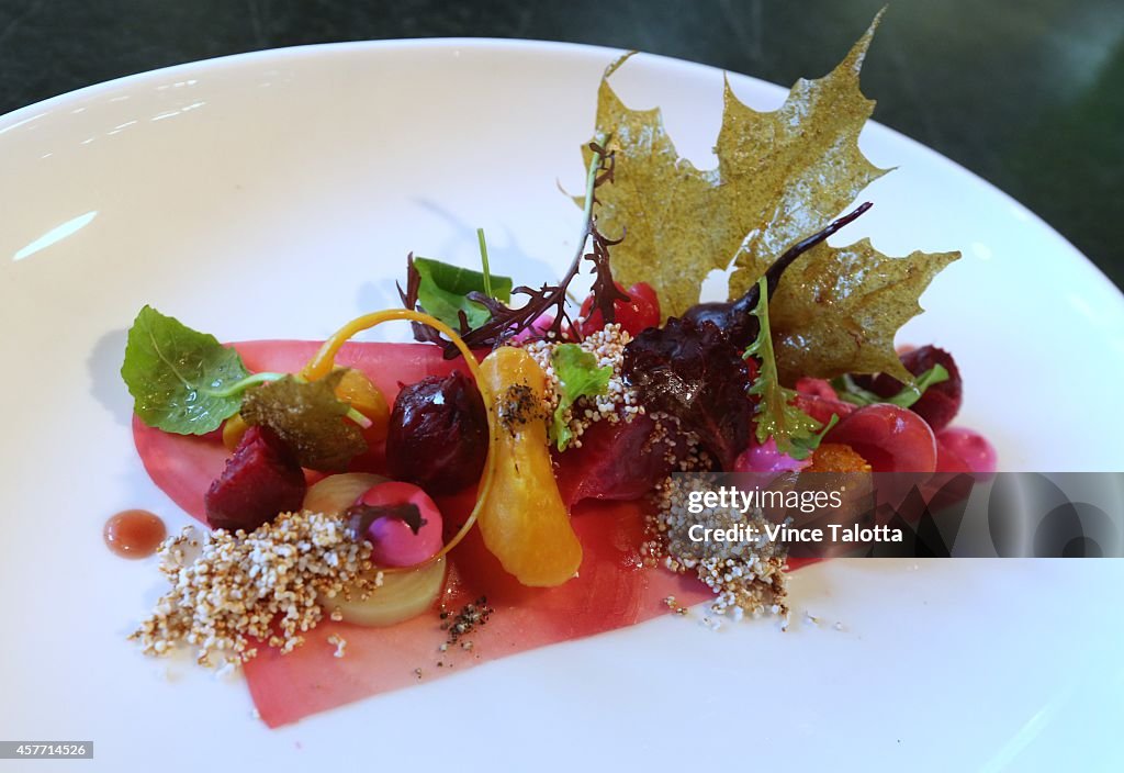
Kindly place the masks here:
MULTIPOLYGON (((798 573, 787 634, 661 619, 278 731, 252 718, 241 682, 182 663, 165 674, 124 642, 160 584, 151 562, 105 549, 103 519, 148 507, 187 520, 133 451, 117 369, 137 309, 227 339, 323 337, 395 304, 408 251, 471 263, 478 226, 497 270, 554 275, 579 219, 555 181, 580 184, 614 56, 481 40, 297 48, 0 119, 4 737, 93 740, 94 766, 115 771, 229 755, 262 770, 356 755, 423 770, 997 770, 1121 754, 1116 561, 835 562, 798 573)), ((732 82, 759 109, 782 97, 732 82)), ((631 104, 663 106, 680 148, 709 163, 718 71, 642 56, 615 83, 631 104)), ((845 238, 964 253, 903 336, 955 353, 962 421, 1006 469, 1124 469, 1122 420, 1098 398, 1124 382, 1120 292, 937 154, 879 126, 863 147, 900 169, 864 194, 876 207, 845 238)))

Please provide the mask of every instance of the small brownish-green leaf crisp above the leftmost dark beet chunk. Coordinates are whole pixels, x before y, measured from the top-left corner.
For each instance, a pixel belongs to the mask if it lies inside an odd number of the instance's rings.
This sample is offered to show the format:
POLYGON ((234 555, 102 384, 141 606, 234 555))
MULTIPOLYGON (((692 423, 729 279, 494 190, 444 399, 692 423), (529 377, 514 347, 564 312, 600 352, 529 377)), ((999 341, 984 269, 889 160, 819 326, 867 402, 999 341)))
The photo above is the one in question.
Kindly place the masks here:
POLYGON ((292 448, 300 466, 321 472, 344 472, 352 458, 366 451, 359 427, 344 421, 348 406, 335 389, 345 371, 319 381, 291 375, 254 387, 242 400, 242 418, 272 429, 292 448))

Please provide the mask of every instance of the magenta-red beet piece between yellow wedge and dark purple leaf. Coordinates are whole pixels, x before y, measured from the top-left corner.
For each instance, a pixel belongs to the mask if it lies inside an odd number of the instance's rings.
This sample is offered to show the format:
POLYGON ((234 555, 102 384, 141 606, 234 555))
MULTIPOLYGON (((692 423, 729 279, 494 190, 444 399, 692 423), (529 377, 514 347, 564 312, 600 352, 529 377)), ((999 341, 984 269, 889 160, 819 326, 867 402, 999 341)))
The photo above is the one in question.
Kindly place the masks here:
POLYGON ((646 415, 632 421, 596 421, 581 436, 581 447, 561 454, 556 478, 568 506, 583 499, 628 500, 643 497, 671 472, 670 437, 653 442, 655 421, 646 415), (624 463, 622 462, 624 460, 624 463))

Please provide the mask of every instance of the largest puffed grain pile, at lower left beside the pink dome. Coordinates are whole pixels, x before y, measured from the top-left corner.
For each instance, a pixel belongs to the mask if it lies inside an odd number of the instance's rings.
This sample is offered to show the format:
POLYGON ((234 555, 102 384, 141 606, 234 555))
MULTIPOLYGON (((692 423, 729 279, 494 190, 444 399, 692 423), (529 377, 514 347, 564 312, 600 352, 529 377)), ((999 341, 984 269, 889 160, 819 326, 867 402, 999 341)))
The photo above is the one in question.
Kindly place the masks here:
MULTIPOLYGON (((321 598, 366 598, 381 584, 371 544, 355 542, 342 517, 307 510, 201 540, 189 526, 164 540, 160 556, 172 589, 129 638, 149 655, 194 647, 200 665, 212 667, 251 660, 254 640, 292 652, 324 618, 321 598)), ((337 657, 344 646, 337 643, 337 657)))

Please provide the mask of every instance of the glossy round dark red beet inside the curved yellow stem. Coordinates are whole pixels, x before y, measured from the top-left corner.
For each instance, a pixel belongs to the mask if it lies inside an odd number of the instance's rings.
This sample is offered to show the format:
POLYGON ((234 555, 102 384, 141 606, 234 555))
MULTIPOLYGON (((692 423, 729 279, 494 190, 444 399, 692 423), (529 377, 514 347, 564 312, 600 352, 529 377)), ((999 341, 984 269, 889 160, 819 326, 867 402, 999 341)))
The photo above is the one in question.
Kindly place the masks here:
POLYGON ((488 413, 480 390, 460 371, 404 387, 387 434, 390 476, 451 494, 480 480, 488 413))

